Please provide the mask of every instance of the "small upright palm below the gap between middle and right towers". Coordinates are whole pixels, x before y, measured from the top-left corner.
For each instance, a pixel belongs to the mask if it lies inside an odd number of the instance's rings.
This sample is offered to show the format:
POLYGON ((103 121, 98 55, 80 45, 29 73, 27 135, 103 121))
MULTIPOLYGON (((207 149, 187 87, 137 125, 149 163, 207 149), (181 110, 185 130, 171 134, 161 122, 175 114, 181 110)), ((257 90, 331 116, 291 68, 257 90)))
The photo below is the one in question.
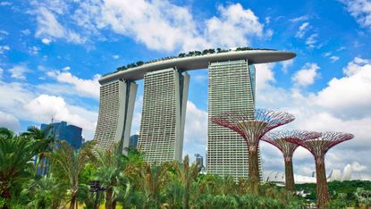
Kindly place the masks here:
POLYGON ((188 155, 184 157, 183 163, 173 163, 174 169, 177 172, 181 184, 184 187, 184 204, 185 208, 190 208, 190 188, 192 183, 196 180, 198 172, 198 163, 190 164, 190 158, 188 155))

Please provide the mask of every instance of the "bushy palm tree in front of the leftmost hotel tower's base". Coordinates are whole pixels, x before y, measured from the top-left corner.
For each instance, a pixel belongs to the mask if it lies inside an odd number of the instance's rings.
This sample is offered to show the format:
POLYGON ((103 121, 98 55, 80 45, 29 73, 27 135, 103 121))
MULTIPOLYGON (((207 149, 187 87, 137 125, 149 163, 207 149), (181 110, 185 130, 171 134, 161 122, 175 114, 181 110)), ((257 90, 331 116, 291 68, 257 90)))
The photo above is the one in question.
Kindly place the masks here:
POLYGON ((123 175, 126 167, 126 157, 121 154, 119 145, 115 144, 105 152, 97 151, 97 180, 99 180, 105 191, 105 208, 114 208, 117 201, 118 186, 125 181, 123 175))

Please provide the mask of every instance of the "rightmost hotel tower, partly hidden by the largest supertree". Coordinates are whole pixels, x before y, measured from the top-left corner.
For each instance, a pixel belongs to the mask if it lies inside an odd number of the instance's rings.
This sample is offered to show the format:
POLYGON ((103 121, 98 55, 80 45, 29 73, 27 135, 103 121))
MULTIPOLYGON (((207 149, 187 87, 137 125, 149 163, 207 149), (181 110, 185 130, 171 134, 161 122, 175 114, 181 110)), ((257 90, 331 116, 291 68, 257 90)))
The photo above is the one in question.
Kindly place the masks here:
POLYGON ((207 172, 248 179, 246 142, 235 131, 213 123, 211 117, 236 111, 251 113, 254 119, 255 67, 238 60, 209 63, 208 70, 207 172))

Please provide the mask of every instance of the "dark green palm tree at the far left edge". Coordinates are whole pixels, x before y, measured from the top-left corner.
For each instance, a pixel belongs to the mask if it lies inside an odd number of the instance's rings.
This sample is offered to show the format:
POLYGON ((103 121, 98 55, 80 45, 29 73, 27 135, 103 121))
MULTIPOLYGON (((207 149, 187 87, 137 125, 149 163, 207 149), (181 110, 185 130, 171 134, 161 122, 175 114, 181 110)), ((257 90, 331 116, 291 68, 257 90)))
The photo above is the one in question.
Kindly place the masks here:
MULTIPOLYGON (((41 151, 41 145, 39 140, 0 135, 0 199, 10 201, 15 195, 13 192, 19 190, 21 184, 30 178, 30 161, 41 151)), ((3 205, 3 208, 8 207, 7 203, 3 205)))

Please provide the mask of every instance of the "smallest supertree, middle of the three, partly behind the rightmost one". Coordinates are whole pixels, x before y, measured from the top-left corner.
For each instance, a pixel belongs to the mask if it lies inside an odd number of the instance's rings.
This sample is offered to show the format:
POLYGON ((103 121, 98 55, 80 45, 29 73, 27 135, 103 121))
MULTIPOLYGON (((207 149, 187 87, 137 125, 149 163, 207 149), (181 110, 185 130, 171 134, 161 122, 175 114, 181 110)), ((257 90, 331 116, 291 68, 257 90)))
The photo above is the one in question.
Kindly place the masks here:
POLYGON ((293 138, 302 141, 318 138, 321 136, 320 132, 307 130, 277 130, 268 132, 261 140, 266 141, 281 150, 284 159, 285 183, 286 189, 289 191, 295 190, 294 172, 292 169, 292 155, 299 147, 286 141, 285 139, 293 138))

